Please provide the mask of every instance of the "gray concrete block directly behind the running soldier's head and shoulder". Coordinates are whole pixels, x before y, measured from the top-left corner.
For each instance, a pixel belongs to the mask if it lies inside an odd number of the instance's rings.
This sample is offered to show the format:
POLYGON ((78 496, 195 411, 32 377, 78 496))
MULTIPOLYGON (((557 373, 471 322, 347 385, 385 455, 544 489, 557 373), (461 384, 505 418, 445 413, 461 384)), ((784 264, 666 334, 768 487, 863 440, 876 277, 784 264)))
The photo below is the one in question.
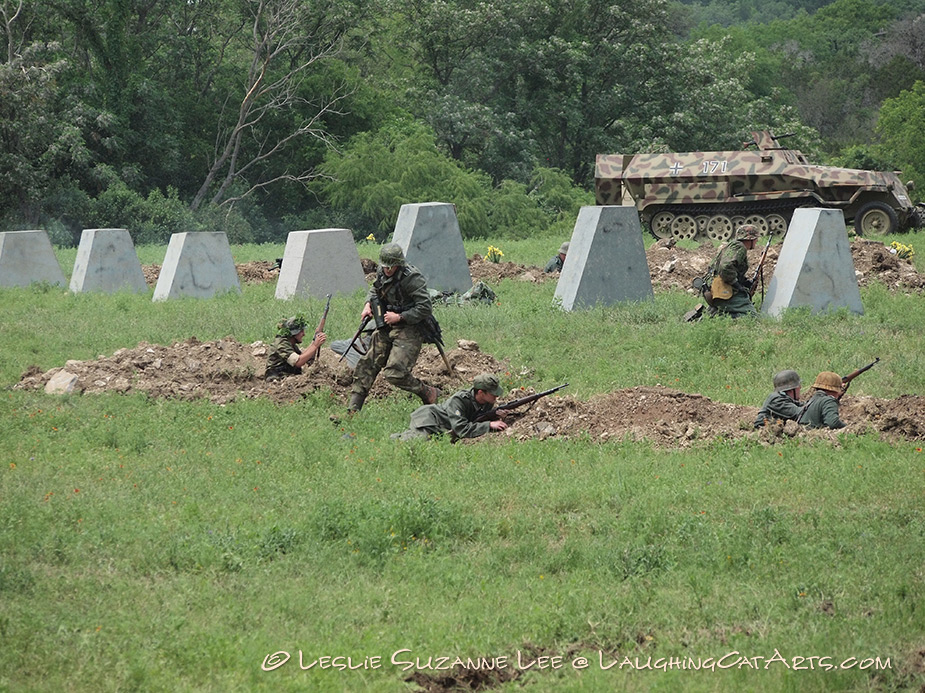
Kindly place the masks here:
POLYGON ((465 293, 472 288, 456 206, 447 202, 402 205, 392 240, 409 265, 427 277, 427 288, 465 293))

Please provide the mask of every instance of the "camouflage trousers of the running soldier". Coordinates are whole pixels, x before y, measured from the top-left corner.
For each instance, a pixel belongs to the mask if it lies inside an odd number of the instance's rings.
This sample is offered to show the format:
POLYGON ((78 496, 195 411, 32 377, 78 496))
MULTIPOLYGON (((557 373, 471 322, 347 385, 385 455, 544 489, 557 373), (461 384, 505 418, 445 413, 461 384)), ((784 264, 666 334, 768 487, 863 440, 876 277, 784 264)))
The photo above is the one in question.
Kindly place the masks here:
POLYGON ((422 397, 427 386, 411 375, 418 354, 424 344, 417 325, 400 325, 373 332, 369 351, 358 362, 353 372, 355 395, 365 397, 382 371, 392 385, 422 397))

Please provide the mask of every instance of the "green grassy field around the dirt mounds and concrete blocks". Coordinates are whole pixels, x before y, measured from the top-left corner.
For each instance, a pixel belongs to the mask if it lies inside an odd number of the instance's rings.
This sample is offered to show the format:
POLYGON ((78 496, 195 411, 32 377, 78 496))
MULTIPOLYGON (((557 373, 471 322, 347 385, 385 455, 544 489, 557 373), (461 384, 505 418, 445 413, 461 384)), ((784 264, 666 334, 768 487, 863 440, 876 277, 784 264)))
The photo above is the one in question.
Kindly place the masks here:
MULTIPOLYGON (((542 264, 556 243, 502 247, 542 264)), ((874 286, 864 316, 683 325, 678 292, 563 314, 554 288, 505 281, 500 305, 438 318, 450 344, 507 359, 512 384, 567 380, 580 398, 660 383, 758 405, 781 368, 806 381, 875 356, 853 392, 925 394, 921 296, 874 286)), ((142 340, 268 340, 287 314, 317 317, 319 301, 273 290, 0 290, 0 385, 142 340)), ((331 338, 360 302, 334 299, 331 338)), ((414 406, 373 402, 343 437, 325 393, 0 392, 0 690, 402 691, 457 657, 503 665, 498 690, 925 684, 921 443, 389 440, 414 406)))

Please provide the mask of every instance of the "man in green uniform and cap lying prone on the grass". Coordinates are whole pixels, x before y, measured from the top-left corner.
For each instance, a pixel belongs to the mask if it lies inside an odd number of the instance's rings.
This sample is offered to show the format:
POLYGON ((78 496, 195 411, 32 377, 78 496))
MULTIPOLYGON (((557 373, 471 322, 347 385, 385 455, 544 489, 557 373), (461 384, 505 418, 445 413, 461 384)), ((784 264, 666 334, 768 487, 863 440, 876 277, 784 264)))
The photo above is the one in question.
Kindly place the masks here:
POLYGON ((450 432, 457 438, 477 438, 489 431, 503 431, 504 421, 476 421, 492 410, 504 389, 498 377, 489 373, 477 375, 468 390, 460 390, 443 404, 425 404, 411 414, 411 427, 392 438, 413 440, 450 432))

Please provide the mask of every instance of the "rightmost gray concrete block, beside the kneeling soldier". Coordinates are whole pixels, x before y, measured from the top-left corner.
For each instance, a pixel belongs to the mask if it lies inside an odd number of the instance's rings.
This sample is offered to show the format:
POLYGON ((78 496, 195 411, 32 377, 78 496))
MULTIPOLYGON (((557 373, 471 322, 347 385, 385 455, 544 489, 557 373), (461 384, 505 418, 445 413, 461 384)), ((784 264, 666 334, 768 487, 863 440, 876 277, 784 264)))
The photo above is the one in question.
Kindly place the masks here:
POLYGON ((863 314, 845 218, 837 209, 798 209, 784 237, 761 306, 765 315, 809 306, 813 313, 848 308, 863 314))

